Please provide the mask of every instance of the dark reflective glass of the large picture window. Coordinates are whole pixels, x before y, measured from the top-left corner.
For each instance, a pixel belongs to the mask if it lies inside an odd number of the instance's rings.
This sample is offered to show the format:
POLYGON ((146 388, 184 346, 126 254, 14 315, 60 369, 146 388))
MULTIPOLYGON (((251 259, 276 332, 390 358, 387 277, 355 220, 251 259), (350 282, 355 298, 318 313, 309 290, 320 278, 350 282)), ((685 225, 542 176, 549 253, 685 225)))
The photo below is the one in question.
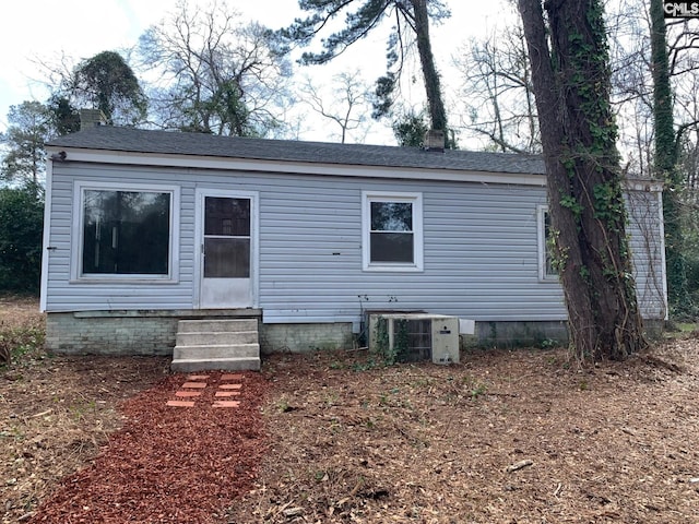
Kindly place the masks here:
POLYGON ((170 193, 84 192, 83 274, 169 273, 170 193))

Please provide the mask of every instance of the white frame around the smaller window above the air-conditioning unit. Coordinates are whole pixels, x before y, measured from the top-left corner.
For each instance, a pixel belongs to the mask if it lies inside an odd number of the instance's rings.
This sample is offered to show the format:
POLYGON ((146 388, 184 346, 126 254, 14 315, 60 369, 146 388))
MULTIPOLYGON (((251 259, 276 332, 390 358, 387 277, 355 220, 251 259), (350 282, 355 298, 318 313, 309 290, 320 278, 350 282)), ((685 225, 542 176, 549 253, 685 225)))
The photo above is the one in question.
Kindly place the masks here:
POLYGON ((392 191, 362 191, 362 265, 364 271, 424 271, 423 194, 392 191), (371 203, 398 202, 413 205, 413 262, 371 262, 371 203))

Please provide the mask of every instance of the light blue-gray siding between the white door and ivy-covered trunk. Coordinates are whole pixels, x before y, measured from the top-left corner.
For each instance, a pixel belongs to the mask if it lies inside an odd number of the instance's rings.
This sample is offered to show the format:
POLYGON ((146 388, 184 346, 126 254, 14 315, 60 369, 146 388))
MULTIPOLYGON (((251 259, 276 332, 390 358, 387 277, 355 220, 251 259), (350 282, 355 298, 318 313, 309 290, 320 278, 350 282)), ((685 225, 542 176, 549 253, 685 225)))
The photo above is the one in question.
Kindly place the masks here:
POLYGON ((264 320, 356 321, 360 309, 562 319, 560 289, 537 281, 544 199, 538 188, 370 179, 270 188, 260 196, 264 320), (423 272, 362 271, 363 190, 423 194, 423 272))

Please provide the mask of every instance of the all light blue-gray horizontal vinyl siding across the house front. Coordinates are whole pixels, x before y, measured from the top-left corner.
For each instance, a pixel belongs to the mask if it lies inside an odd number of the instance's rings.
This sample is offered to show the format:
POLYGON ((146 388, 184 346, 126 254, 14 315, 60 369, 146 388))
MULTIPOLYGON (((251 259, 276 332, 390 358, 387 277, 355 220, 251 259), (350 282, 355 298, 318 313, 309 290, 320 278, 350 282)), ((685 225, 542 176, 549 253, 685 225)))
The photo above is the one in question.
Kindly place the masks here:
POLYGON ((357 322, 363 310, 386 309, 479 321, 566 318, 560 286, 538 281, 543 187, 80 163, 54 167, 47 310, 191 309, 197 188, 259 192, 264 322, 357 322), (71 283, 74 180, 179 186, 178 281, 71 283), (422 193, 424 271, 363 271, 363 191, 422 193))

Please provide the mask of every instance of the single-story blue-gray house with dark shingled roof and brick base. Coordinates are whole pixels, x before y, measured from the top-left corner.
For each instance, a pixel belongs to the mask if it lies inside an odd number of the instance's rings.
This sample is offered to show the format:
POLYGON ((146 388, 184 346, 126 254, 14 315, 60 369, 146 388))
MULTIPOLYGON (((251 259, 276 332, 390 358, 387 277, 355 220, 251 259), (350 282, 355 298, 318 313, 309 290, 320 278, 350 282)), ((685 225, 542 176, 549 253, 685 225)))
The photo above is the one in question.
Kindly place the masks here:
MULTIPOLYGON (((169 354, 181 319, 252 317, 263 352, 351 346, 367 311, 566 337, 535 156, 97 126, 52 140, 47 347, 169 354)), ((665 319, 662 186, 629 180, 638 296, 665 319)))

